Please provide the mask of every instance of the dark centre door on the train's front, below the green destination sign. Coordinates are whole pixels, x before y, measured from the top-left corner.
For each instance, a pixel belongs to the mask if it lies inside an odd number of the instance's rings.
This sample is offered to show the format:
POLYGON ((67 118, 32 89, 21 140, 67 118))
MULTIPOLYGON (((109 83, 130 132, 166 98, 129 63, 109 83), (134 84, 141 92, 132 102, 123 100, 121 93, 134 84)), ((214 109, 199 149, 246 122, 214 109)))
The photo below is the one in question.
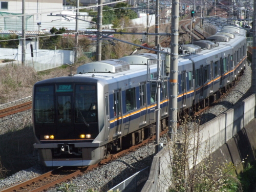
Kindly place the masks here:
POLYGON ((56 93, 57 108, 57 137, 61 139, 74 138, 74 122, 72 116, 72 93, 56 93))

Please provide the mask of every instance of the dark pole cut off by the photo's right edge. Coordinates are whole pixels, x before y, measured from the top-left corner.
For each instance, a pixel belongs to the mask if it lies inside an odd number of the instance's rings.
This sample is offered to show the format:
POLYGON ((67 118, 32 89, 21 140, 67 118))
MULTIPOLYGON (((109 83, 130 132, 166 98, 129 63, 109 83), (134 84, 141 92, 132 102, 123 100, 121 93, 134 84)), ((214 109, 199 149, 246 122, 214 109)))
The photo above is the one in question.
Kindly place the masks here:
POLYGON ((251 87, 252 92, 256 93, 256 0, 253 2, 253 8, 251 87))

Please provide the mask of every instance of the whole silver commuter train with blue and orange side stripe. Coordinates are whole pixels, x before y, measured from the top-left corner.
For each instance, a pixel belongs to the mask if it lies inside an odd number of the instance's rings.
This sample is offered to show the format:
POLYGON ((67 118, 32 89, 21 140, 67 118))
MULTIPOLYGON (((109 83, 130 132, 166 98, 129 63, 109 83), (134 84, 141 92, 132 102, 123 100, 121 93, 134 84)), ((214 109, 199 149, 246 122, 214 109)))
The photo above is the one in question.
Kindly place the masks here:
MULTIPOLYGON (((246 32, 226 26, 205 40, 181 46, 180 52, 178 114, 208 105, 232 86, 245 69, 246 32)), ((147 63, 156 58, 144 53, 90 62, 78 67, 74 76, 35 83, 34 148, 42 163, 92 165, 152 136, 157 82, 147 81, 147 63)), ((151 61, 153 79, 156 63, 151 61)), ((161 84, 162 129, 168 120, 169 88, 167 77, 161 84)))

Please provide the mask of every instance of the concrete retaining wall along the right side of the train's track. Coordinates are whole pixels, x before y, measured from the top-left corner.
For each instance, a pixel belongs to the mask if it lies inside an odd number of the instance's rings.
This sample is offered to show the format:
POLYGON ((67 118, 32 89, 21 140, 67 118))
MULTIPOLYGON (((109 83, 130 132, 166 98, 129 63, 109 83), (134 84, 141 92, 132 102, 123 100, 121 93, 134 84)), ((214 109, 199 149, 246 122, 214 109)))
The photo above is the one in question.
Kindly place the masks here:
MULTIPOLYGON (((255 99, 252 94, 233 109, 217 116, 202 125, 202 145, 210 138, 210 144, 214 147, 214 157, 221 157, 234 165, 241 163, 249 155, 254 160, 256 146, 255 99), (243 129, 244 127, 244 129, 243 129), (249 134, 248 134, 249 133, 249 134)), ((201 157, 198 157, 199 162, 201 157)), ((142 192, 165 191, 169 186, 169 177, 172 170, 169 167, 170 157, 167 150, 163 148, 153 159, 150 177, 145 183, 142 192)), ((243 169, 240 164, 237 171, 243 169)))

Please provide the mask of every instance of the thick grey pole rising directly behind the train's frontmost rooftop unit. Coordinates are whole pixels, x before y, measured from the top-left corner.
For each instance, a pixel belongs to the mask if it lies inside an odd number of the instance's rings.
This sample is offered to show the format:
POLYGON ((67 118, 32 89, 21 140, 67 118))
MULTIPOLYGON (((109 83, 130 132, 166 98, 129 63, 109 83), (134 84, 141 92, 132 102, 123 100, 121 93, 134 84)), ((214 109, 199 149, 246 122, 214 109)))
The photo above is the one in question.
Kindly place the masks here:
POLYGON ((99 0, 98 4, 98 24, 97 24, 97 46, 96 46, 96 60, 101 60, 101 32, 102 32, 102 0, 99 0))

